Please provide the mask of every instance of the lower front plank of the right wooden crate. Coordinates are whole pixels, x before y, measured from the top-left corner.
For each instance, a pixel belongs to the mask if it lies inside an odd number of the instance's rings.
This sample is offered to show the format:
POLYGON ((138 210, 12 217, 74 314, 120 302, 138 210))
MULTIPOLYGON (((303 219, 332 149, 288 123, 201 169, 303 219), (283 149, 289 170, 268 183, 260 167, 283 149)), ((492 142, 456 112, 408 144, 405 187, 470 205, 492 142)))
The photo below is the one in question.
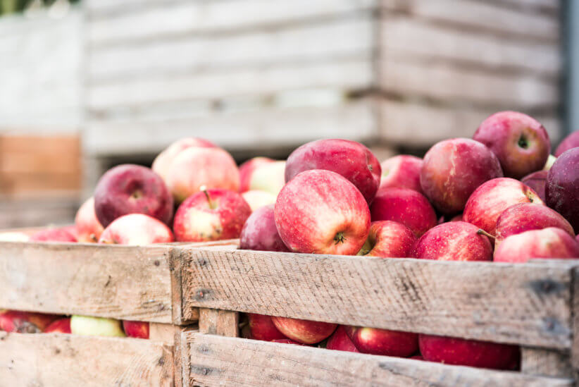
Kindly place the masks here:
POLYGON ((187 333, 189 386, 572 386, 516 372, 187 333))

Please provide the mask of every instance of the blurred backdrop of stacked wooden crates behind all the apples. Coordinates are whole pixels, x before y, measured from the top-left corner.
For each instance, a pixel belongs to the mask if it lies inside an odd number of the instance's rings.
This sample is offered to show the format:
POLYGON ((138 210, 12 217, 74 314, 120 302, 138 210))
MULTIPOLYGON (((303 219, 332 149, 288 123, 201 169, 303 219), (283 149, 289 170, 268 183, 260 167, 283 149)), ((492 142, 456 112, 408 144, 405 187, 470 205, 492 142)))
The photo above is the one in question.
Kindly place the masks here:
MULTIPOLYGON (((0 0, 0 226, 71 221, 180 137, 243 161, 320 137, 380 159, 490 113, 579 128, 563 0, 0 0)), ((577 9, 576 9, 577 8, 577 9)))

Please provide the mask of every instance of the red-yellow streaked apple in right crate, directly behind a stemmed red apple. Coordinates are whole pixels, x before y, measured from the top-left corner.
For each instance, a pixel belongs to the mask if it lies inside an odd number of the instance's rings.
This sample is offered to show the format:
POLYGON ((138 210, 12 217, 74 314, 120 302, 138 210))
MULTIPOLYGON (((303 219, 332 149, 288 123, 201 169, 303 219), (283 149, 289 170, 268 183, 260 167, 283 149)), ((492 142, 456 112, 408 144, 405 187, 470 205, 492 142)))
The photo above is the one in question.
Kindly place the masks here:
POLYGON ((537 192, 524 183, 511 178, 496 178, 480 185, 468 198, 463 219, 494 235, 497 219, 514 204, 544 204, 537 192))

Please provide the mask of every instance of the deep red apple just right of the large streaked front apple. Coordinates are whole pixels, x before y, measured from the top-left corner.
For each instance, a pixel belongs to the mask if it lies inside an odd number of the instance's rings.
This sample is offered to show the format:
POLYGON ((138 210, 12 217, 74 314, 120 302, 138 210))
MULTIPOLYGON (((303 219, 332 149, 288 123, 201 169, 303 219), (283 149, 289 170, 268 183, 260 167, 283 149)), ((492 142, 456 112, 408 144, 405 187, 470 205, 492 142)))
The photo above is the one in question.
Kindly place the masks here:
POLYGON ((372 221, 396 221, 420 238, 437 225, 435 210, 420 192, 409 188, 380 188, 370 206, 372 221))

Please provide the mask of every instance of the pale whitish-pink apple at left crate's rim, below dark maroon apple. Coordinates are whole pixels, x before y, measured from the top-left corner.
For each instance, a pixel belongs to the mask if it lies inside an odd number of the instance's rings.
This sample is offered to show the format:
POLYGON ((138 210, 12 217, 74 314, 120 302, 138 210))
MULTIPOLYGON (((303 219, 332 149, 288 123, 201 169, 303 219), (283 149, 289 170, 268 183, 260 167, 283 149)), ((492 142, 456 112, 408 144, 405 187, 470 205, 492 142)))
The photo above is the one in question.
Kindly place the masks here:
POLYGON ((173 240, 173 233, 165 223, 144 214, 128 214, 109 224, 99 243, 144 246, 173 240))

